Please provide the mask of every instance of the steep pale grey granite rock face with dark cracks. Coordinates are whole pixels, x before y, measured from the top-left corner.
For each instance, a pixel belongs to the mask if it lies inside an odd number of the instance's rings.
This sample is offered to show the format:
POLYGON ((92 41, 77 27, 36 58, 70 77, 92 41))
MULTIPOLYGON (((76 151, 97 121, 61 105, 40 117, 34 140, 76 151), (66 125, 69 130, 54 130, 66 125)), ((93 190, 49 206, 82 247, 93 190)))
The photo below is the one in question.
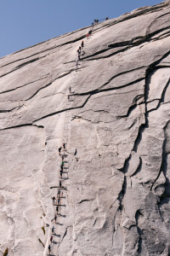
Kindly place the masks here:
POLYGON ((0 255, 170 255, 169 17, 167 1, 0 59, 0 255))

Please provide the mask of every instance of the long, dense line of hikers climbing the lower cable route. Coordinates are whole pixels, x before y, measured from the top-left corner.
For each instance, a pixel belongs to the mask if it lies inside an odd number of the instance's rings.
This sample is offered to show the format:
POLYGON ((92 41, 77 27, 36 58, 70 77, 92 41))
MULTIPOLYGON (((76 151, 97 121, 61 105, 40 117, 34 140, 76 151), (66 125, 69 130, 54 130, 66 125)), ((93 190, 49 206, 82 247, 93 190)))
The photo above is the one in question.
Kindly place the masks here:
MULTIPOLYGON (((59 147, 59 156, 61 157, 61 164, 60 164, 60 170, 59 170, 59 173, 60 173, 60 180, 59 180, 59 189, 58 189, 58 192, 57 192, 57 197, 53 196, 52 197, 52 201, 53 201, 53 205, 56 206, 56 214, 54 215, 54 219, 52 219, 52 221, 54 220, 55 221, 55 224, 57 224, 57 218, 59 218, 59 207, 61 206, 61 199, 63 198, 63 192, 61 191, 61 189, 66 189, 65 187, 62 186, 62 182, 61 182, 61 178, 63 176, 63 172, 64 172, 64 165, 65 165, 65 151, 66 151, 66 144, 63 143, 63 150, 64 150, 64 154, 61 154, 61 150, 62 150, 62 147, 59 147)), ((53 239, 54 239, 54 226, 52 227, 51 229, 52 231, 52 235, 50 236, 50 239, 49 241, 53 242, 53 239)), ((48 253, 51 253, 51 244, 48 245, 48 253)))

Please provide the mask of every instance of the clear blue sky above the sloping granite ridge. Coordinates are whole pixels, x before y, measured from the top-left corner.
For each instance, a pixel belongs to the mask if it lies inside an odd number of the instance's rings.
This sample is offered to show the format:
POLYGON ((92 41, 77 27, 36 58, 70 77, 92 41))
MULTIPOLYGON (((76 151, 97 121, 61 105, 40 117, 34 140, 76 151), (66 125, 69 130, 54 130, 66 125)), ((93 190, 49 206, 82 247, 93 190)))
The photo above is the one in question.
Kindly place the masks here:
POLYGON ((0 0, 0 57, 161 0, 0 0))

